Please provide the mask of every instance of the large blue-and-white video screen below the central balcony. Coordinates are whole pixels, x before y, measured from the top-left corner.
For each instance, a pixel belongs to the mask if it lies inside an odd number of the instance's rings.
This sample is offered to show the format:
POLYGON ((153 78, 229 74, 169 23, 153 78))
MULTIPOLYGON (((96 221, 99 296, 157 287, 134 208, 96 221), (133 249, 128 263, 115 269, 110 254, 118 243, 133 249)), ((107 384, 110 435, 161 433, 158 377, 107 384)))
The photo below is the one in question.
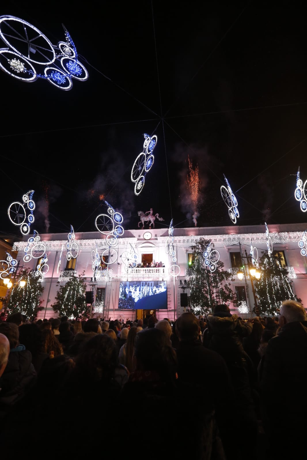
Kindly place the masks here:
POLYGON ((123 281, 119 288, 121 310, 167 310, 166 281, 123 281))

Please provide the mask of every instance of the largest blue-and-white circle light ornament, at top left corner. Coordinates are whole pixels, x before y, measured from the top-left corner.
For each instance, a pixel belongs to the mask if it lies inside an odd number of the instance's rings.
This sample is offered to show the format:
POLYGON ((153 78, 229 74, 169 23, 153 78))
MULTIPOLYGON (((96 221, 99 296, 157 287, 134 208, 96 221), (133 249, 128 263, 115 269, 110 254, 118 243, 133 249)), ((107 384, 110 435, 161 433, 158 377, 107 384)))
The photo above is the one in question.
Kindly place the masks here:
POLYGON ((20 81, 42 78, 65 91, 72 88, 72 79, 87 80, 87 69, 78 61, 75 44, 64 25, 63 28, 66 41, 52 45, 27 21, 0 16, 0 38, 6 45, 0 49, 0 68, 20 81))

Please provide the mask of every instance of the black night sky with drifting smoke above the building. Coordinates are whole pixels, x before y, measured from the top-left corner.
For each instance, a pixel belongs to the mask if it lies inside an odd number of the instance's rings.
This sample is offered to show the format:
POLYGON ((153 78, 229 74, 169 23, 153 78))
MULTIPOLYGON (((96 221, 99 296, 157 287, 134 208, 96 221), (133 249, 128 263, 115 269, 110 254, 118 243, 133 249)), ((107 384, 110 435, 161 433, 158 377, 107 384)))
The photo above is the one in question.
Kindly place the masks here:
POLYGON ((89 73, 65 92, 0 72, 3 235, 20 235, 6 212, 29 189, 40 233, 95 231, 102 194, 126 229, 150 207, 167 226, 172 217, 194 226, 188 155, 202 179, 198 226, 232 225, 223 174, 237 192, 237 224, 306 221, 294 199, 299 165, 307 178, 302 1, 11 1, 0 14, 54 45, 64 23, 89 73), (134 196, 144 132, 158 137, 155 163, 134 196))

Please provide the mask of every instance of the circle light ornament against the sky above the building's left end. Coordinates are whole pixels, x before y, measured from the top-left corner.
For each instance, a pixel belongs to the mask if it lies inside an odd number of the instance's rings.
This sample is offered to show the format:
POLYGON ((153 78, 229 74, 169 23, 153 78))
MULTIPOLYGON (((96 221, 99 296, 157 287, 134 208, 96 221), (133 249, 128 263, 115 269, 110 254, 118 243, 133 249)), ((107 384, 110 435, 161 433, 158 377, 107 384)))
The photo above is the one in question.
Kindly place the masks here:
POLYGON ((33 194, 34 190, 29 190, 23 195, 23 203, 13 201, 7 208, 7 215, 10 221, 20 227, 23 236, 29 235, 30 225, 34 222, 35 202, 32 200, 33 194))

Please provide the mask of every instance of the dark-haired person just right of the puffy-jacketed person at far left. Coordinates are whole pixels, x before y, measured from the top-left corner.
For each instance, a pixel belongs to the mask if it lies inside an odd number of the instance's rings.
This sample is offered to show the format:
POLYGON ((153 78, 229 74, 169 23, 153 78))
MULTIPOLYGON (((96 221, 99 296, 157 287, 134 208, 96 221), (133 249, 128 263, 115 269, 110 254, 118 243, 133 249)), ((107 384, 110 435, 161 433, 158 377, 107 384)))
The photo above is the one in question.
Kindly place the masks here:
POLYGON ((19 326, 19 341, 25 346, 26 350, 30 351, 32 364, 36 374, 39 375, 43 362, 49 356, 43 350, 43 338, 40 327, 34 322, 22 324, 19 326))

